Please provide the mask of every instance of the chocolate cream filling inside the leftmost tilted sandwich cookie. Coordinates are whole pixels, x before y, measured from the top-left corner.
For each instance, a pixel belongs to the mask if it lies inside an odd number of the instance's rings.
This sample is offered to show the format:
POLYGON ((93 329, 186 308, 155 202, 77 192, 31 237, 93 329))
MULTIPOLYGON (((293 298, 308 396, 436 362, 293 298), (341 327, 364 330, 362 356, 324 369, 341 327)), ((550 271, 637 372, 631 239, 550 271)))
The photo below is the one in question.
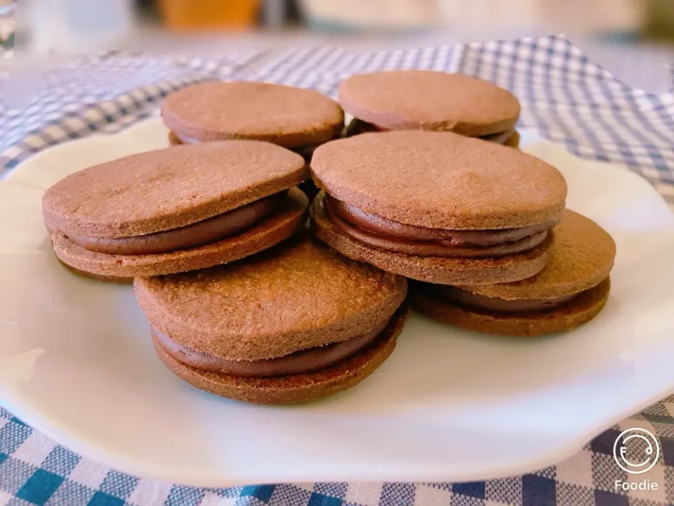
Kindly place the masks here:
POLYGON ((70 234, 68 238, 84 249, 100 253, 123 255, 169 253, 216 242, 244 231, 270 216, 282 204, 286 195, 287 192, 276 193, 232 211, 165 232, 118 239, 88 238, 70 234))

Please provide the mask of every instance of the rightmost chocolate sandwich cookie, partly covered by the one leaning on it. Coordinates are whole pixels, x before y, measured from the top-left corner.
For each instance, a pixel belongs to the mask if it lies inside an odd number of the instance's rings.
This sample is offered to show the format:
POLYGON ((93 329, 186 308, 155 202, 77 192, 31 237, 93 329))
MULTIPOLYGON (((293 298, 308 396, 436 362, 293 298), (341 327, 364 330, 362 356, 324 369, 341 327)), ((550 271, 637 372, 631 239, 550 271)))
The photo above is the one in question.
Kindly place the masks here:
POLYGON ((415 283, 412 304, 431 318, 487 334, 572 330, 604 307, 616 244, 597 223, 568 210, 553 236, 548 265, 532 278, 479 286, 415 283))

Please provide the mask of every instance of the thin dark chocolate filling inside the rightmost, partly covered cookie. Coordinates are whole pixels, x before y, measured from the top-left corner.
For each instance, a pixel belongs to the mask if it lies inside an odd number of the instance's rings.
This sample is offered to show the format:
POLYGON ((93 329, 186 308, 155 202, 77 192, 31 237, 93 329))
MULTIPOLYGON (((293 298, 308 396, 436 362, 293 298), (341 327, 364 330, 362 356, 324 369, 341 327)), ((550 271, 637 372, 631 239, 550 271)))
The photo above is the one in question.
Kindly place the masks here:
POLYGON ((485 297, 484 295, 474 294, 468 292, 468 290, 449 285, 424 284, 422 290, 431 297, 447 301, 451 304, 461 304, 463 306, 472 306, 478 309, 498 311, 501 313, 520 313, 523 311, 545 311, 546 309, 555 309, 579 295, 562 295, 561 297, 553 297, 552 299, 505 300, 499 297, 485 297))

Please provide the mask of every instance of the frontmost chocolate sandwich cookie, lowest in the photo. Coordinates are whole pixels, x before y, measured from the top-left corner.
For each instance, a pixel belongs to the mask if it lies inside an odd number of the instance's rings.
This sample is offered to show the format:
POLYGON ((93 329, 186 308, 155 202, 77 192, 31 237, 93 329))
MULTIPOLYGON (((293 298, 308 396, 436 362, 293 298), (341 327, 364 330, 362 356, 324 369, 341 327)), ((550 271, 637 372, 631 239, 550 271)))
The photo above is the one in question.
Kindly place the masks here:
POLYGON ((390 355, 404 278, 304 234, 249 259, 136 279, 159 358, 213 394, 302 403, 353 387, 390 355))

